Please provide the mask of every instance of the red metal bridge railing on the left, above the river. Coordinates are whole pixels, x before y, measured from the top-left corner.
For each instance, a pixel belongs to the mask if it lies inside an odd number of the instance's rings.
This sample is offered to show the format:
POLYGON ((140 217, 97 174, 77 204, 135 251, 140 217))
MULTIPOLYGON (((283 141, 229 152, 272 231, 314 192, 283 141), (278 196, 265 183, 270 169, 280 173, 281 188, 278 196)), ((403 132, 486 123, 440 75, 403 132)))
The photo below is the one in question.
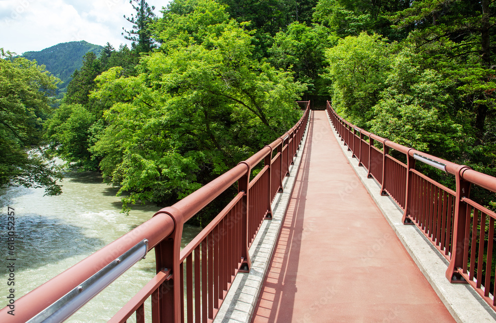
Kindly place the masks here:
MULTIPOLYGON (((82 295, 86 286, 95 288, 86 284, 87 281, 95 275, 104 278, 112 275, 110 267, 124 263, 126 252, 137 245, 146 245, 146 251, 155 249, 157 274, 109 322, 126 322, 133 314, 136 322, 145 322, 144 302, 150 297, 154 323, 211 322, 235 275, 250 269, 248 248, 264 218, 272 216, 271 202, 282 191, 282 180, 306 131, 310 102, 305 104, 300 121, 283 136, 16 300, 15 307, 22 310, 16 311, 15 316, 7 314, 8 307, 3 308, 0 321, 7 318, 11 323, 42 322, 46 318, 51 320, 50 315, 61 318, 65 315, 59 314, 62 306, 53 308, 53 304, 67 295, 82 295), (250 180, 252 168, 261 161, 263 168, 250 180), (183 224, 236 182, 239 187, 236 197, 181 250, 183 224)), ((71 302, 65 304, 70 307, 71 302)))

